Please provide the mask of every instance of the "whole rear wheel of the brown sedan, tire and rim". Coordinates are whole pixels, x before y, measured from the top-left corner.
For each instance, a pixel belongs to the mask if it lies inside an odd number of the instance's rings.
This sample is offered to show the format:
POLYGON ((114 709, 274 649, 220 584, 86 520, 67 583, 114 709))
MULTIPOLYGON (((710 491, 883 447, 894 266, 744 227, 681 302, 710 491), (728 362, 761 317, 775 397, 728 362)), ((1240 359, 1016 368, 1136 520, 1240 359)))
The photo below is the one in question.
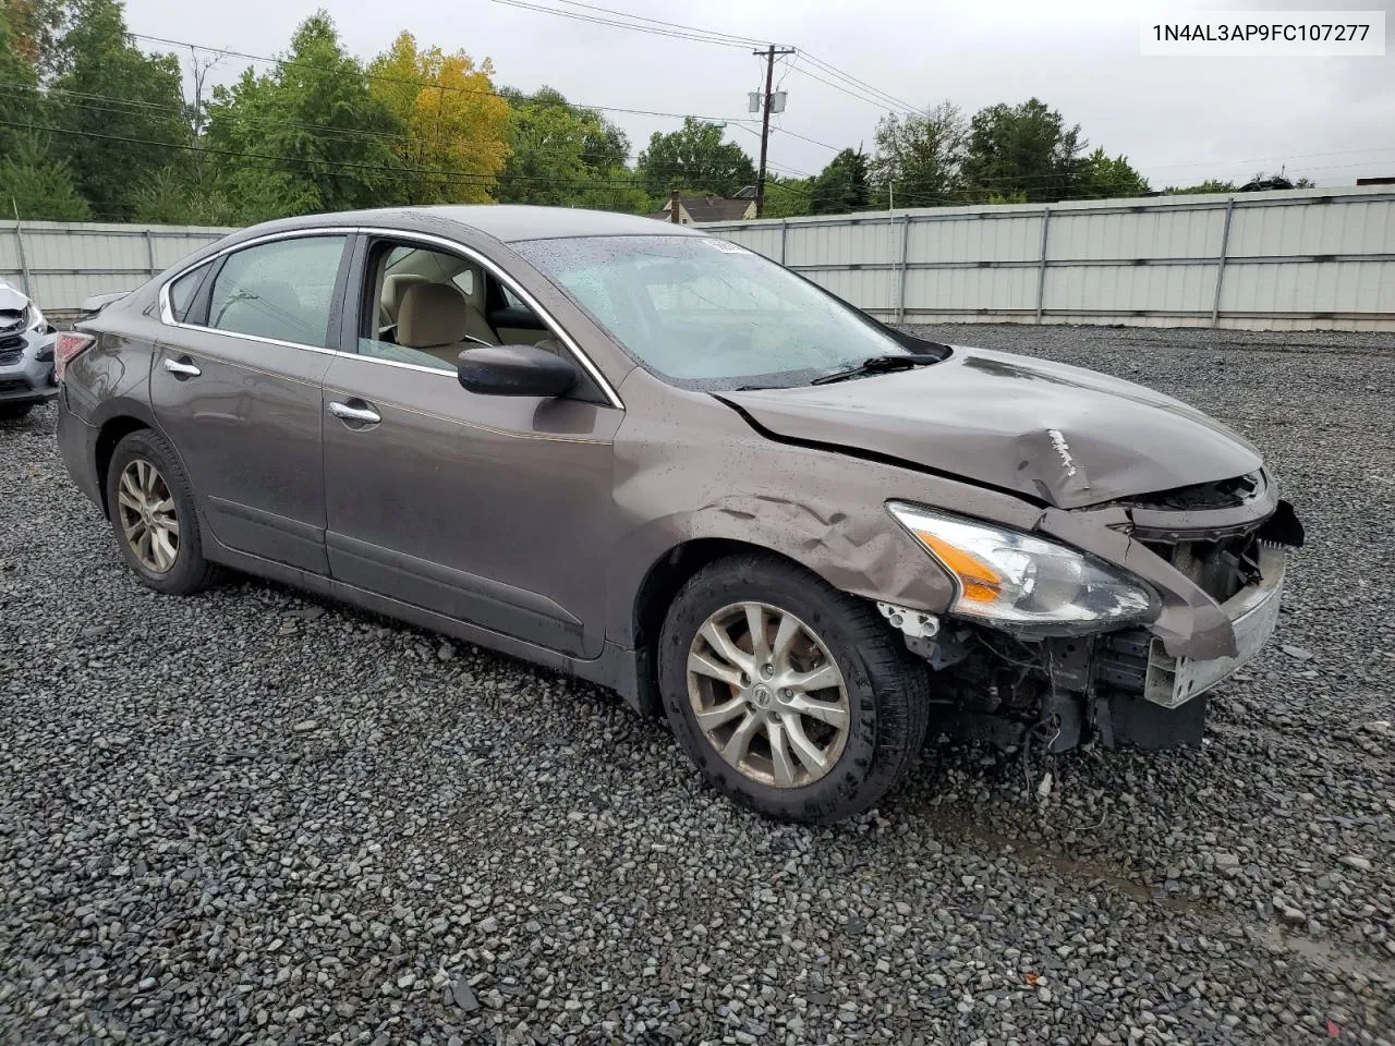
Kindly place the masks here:
POLYGON ((188 596, 212 579, 188 478, 169 442, 148 428, 116 445, 106 503, 121 556, 156 591, 188 596))

